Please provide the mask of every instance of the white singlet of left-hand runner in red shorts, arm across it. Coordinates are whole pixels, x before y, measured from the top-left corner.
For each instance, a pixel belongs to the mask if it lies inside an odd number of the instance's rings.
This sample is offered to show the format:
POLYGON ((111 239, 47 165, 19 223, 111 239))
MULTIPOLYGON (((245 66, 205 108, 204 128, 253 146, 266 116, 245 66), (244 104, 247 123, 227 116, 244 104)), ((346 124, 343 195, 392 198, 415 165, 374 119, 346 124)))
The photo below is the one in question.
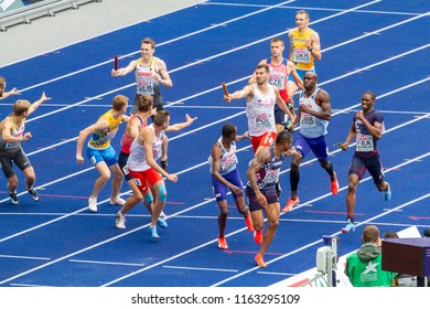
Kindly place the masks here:
MULTIPOLYGON (((163 143, 164 132, 161 131, 155 136, 153 125, 148 126, 151 129, 154 139, 152 141, 152 158, 157 161, 161 157, 161 146, 163 143)), ((127 167, 135 172, 142 172, 149 170, 151 167, 148 164, 147 154, 144 153, 144 146, 137 142, 135 138, 130 147, 130 156, 127 160, 127 167)))

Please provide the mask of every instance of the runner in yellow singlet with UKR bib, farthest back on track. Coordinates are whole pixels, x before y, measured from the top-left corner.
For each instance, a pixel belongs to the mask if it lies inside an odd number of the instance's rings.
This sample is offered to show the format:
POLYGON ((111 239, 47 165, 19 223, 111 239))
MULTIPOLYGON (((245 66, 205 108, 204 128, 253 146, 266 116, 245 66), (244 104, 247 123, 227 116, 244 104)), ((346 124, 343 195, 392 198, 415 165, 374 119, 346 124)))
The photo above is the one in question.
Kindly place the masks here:
MULTIPOLYGON (((295 13, 297 28, 288 34, 291 42, 290 60, 295 64, 295 71, 302 81, 304 73, 308 71, 315 72, 314 61, 321 60, 320 35, 316 31, 308 26, 309 21, 309 13, 305 10, 298 11, 295 13)), ((292 108, 290 110, 294 116, 293 97, 297 90, 298 86, 294 81, 289 78, 287 82, 287 92, 290 98, 290 107, 292 108)))

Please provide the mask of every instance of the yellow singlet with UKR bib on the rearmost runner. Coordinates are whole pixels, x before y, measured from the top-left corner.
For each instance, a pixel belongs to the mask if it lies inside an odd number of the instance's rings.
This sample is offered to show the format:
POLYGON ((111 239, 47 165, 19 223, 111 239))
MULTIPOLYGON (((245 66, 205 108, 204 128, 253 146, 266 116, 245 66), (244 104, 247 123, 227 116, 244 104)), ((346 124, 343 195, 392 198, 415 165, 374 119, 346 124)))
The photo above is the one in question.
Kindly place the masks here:
POLYGON ((295 64, 299 70, 312 70, 313 68, 313 56, 307 47, 307 40, 311 40, 313 30, 308 28, 307 31, 300 32, 299 29, 291 31, 291 46, 292 46, 292 58, 291 61, 295 64))

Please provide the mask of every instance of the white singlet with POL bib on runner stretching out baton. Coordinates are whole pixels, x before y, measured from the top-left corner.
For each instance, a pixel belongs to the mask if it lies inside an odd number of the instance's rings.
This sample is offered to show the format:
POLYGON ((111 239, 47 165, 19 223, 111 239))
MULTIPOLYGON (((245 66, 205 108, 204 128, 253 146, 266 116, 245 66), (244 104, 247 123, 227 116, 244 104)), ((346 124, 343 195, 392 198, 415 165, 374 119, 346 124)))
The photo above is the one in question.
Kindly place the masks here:
POLYGON ((246 116, 248 117, 249 136, 262 136, 266 132, 276 132, 275 111, 276 105, 275 90, 272 85, 268 85, 269 93, 261 94, 257 84, 252 84, 254 98, 246 105, 246 116))

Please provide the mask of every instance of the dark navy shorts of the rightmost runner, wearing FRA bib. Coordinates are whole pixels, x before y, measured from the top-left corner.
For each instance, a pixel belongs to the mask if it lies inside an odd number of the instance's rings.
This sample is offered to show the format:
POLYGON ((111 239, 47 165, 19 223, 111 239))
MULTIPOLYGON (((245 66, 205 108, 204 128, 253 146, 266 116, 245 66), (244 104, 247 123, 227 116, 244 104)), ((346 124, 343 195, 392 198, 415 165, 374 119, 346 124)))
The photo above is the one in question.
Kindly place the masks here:
POLYGON ((380 162, 380 157, 378 152, 376 152, 372 157, 362 157, 357 153, 354 153, 348 174, 356 174, 358 177, 358 180, 362 180, 362 178, 366 173, 366 170, 368 170, 376 185, 381 184, 384 182, 383 164, 380 162))

